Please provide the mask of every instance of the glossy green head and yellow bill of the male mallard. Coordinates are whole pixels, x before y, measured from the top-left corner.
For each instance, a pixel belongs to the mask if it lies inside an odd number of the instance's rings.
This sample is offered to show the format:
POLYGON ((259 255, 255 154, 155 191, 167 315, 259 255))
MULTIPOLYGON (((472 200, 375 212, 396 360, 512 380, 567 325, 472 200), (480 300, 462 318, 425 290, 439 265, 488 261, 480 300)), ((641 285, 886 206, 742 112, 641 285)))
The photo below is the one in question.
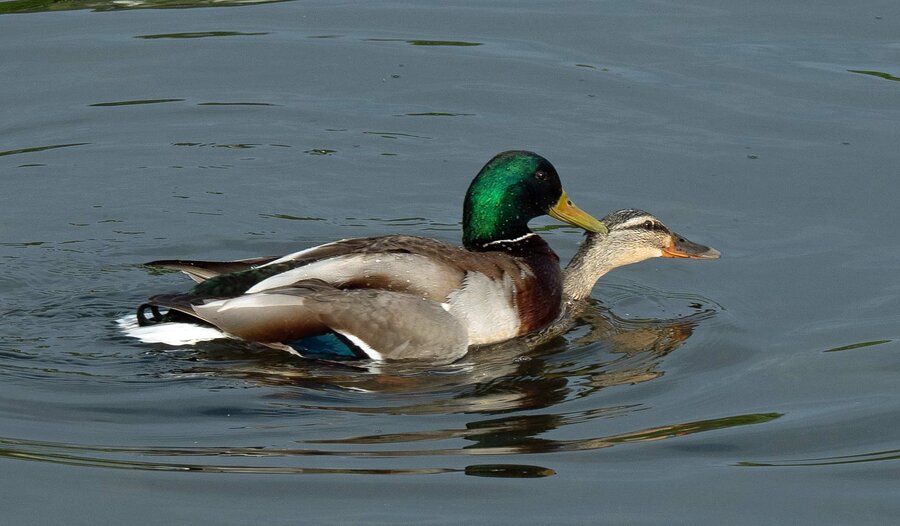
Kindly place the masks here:
POLYGON ((568 198, 550 161, 526 151, 497 154, 466 192, 463 244, 478 249, 518 239, 531 232, 530 220, 544 214, 588 232, 606 233, 603 223, 568 198))

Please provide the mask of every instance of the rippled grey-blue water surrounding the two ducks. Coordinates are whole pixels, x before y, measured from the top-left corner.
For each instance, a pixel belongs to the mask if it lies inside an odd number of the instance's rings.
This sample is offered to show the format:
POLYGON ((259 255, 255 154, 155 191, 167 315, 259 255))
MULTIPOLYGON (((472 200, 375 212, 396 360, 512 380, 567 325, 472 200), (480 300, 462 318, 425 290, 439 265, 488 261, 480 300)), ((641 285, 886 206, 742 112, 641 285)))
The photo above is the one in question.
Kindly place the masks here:
POLYGON ((4 524, 896 520, 895 0, 228 4, 0 2, 4 524), (510 148, 723 258, 439 369, 116 325, 152 259, 458 241, 510 148))

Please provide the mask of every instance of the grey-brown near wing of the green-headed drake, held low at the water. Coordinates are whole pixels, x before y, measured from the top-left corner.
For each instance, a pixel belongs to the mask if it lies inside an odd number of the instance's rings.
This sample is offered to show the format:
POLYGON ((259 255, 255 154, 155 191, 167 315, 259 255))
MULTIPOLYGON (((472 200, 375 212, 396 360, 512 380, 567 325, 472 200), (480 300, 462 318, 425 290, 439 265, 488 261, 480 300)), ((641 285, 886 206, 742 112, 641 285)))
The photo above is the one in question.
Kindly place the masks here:
POLYGON ((468 347, 465 328, 438 302, 391 291, 342 290, 318 280, 236 298, 174 295, 152 301, 233 336, 279 347, 329 332, 373 359, 453 361, 468 347))

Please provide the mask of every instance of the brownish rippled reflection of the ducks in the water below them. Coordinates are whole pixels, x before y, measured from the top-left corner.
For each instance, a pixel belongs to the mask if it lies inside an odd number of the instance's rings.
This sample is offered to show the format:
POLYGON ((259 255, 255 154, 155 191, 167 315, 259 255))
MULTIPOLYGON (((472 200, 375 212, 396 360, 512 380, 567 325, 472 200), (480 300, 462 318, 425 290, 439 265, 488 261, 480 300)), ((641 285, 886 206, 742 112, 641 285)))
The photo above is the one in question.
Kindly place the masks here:
MULTIPOLYGON (((646 294, 648 290, 627 288, 620 296, 630 299, 636 292, 646 294)), ((665 296, 659 291, 654 295, 665 296)), ((397 422, 406 423, 414 415, 441 417, 441 424, 424 429, 416 425, 410 430, 401 425, 375 434, 300 440, 337 448, 323 451, 382 444, 393 446, 384 452, 388 455, 410 443, 443 445, 442 441, 449 440, 455 445, 449 446, 446 454, 540 453, 596 449, 748 423, 728 417, 722 422, 666 424, 621 436, 574 441, 546 438, 555 429, 626 416, 645 408, 642 403, 603 405, 597 403, 602 399, 595 399, 589 408, 573 410, 568 402, 596 396, 607 387, 634 385, 661 376, 663 358, 681 347, 697 326, 717 312, 715 304, 699 297, 670 296, 666 300, 670 308, 693 312, 677 319, 634 320, 619 317, 615 309, 591 301, 581 306, 566 333, 536 346, 522 340, 485 346, 460 362, 437 368, 415 363, 298 360, 262 346, 256 359, 248 360, 245 344, 217 340, 195 347, 191 356, 194 365, 177 374, 240 378, 274 387, 265 398, 285 415, 333 411, 403 418, 397 422)), ((441 451, 445 450, 425 447, 421 454, 441 451)))

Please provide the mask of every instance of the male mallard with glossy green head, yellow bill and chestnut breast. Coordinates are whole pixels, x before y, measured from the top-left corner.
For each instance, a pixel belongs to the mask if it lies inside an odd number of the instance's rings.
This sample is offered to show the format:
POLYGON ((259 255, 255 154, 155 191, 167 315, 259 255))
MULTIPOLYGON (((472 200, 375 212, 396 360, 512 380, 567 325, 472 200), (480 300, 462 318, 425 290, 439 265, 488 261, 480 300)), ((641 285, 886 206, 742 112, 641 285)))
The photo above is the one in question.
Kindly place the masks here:
POLYGON ((138 319, 148 325, 182 313, 293 352, 294 342, 334 334, 360 357, 453 361, 470 345, 532 332, 559 315, 559 258, 528 228, 543 214, 606 232, 572 204, 549 161, 504 152, 466 193, 464 248, 395 235, 344 239, 278 259, 155 261, 149 265, 182 270, 199 284, 187 294, 150 298, 138 319), (170 314, 161 316, 158 307, 170 314))

